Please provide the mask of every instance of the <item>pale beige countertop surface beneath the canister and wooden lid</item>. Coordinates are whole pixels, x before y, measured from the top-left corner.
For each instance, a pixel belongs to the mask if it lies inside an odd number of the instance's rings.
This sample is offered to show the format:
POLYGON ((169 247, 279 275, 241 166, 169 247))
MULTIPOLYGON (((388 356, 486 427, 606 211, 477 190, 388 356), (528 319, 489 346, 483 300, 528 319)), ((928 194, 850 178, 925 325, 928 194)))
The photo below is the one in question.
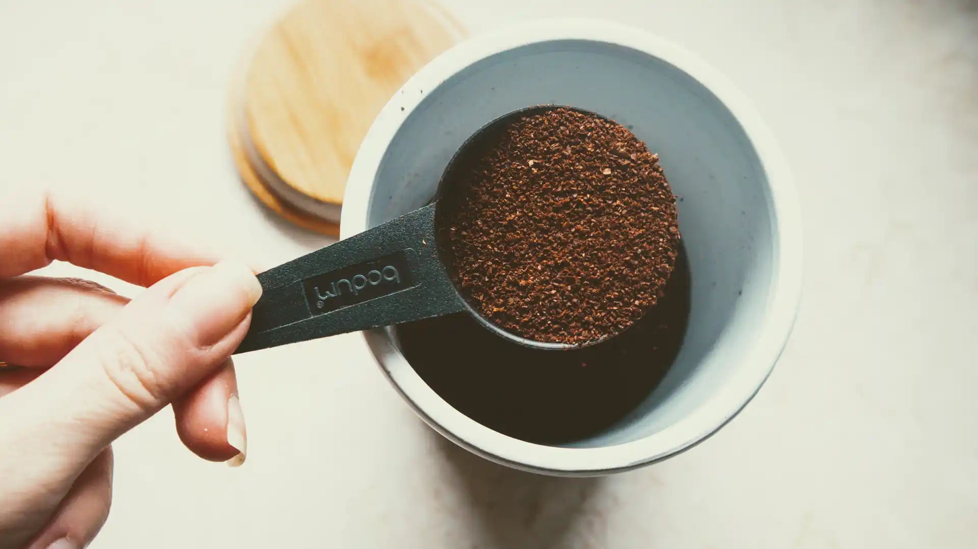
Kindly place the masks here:
MULTIPOLYGON (((641 25, 755 100, 806 227, 801 311, 769 383, 682 456, 560 480, 434 435, 356 335, 256 353, 239 360, 244 468, 195 459, 160 414, 117 443, 93 547, 978 546, 978 3, 450 4, 475 31, 641 25)), ((80 188, 268 263, 323 245, 265 215, 225 149, 234 64, 280 7, 0 0, 0 187, 80 188)))

